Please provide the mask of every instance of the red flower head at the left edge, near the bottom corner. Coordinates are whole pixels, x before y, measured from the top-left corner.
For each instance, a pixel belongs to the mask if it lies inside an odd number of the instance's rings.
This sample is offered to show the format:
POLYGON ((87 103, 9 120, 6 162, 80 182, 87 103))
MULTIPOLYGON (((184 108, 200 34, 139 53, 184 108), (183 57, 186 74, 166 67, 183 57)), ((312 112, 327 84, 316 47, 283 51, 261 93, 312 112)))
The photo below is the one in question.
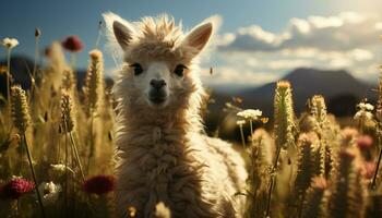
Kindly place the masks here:
POLYGON ((21 178, 15 178, 1 186, 0 195, 3 198, 17 199, 33 189, 35 189, 35 183, 21 178))

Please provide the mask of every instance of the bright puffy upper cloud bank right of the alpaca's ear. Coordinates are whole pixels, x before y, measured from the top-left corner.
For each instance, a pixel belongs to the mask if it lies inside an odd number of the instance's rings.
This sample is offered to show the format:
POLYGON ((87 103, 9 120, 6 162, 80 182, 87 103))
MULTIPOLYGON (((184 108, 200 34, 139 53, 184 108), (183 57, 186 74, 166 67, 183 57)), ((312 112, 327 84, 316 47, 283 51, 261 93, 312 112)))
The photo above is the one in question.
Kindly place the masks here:
POLYGON ((282 33, 266 32, 259 25, 251 25, 229 33, 230 40, 219 48, 237 51, 275 51, 291 48, 356 49, 378 43, 378 36, 382 34, 380 21, 377 15, 344 12, 337 16, 291 19, 282 33))

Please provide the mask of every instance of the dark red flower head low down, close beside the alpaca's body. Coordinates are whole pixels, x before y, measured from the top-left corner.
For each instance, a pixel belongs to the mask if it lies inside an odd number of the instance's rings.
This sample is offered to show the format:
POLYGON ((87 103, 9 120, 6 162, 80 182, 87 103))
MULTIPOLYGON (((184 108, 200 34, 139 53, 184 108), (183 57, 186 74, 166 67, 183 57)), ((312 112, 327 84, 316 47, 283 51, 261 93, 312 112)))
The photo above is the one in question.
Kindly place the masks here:
POLYGON ((98 195, 114 191, 115 186, 116 180, 112 175, 96 175, 87 179, 83 184, 85 192, 98 195))

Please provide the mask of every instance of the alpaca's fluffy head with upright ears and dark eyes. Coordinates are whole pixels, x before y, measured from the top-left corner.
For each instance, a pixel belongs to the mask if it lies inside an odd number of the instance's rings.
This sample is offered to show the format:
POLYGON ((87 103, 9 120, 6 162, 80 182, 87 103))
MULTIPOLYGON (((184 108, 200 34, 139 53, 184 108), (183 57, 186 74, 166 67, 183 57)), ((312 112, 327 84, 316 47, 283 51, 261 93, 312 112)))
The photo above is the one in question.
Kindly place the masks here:
POLYGON ((155 110, 192 104, 193 94, 201 89, 196 60, 213 33, 212 22, 183 34, 167 15, 134 23, 111 13, 104 17, 111 40, 123 51, 117 97, 124 98, 128 107, 155 110))

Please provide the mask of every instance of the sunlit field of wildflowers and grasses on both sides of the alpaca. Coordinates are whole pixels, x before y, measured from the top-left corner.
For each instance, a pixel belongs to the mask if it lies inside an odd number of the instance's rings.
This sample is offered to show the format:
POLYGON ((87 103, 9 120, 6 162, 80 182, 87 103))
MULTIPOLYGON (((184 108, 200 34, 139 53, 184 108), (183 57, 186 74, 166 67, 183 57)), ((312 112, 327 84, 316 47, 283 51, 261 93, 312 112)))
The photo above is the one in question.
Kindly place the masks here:
MULTIPOLYGON (((36 29, 36 50, 40 32, 36 29)), ((2 41, 8 60, 17 40, 2 41)), ((0 113, 0 217, 111 217, 114 99, 105 88, 103 53, 89 52, 84 87, 76 87, 80 39, 52 43, 31 69, 32 87, 12 81, 2 68, 7 94, 0 113), (65 50, 65 51, 64 51, 65 50), (71 56, 65 60, 64 52, 71 56)), ((377 105, 355 106, 354 125, 341 128, 325 99, 308 99, 295 114, 293 87, 276 85, 273 128, 261 110, 227 102, 237 114, 248 162, 244 217, 382 217, 382 81, 377 105), (249 129, 250 134, 244 134, 249 129)), ((238 145, 239 146, 239 145, 238 145)), ((166 211, 163 205, 158 208, 166 211)), ((134 217, 129 208, 128 217, 134 217)), ((170 217, 163 213, 158 217, 170 217)))

